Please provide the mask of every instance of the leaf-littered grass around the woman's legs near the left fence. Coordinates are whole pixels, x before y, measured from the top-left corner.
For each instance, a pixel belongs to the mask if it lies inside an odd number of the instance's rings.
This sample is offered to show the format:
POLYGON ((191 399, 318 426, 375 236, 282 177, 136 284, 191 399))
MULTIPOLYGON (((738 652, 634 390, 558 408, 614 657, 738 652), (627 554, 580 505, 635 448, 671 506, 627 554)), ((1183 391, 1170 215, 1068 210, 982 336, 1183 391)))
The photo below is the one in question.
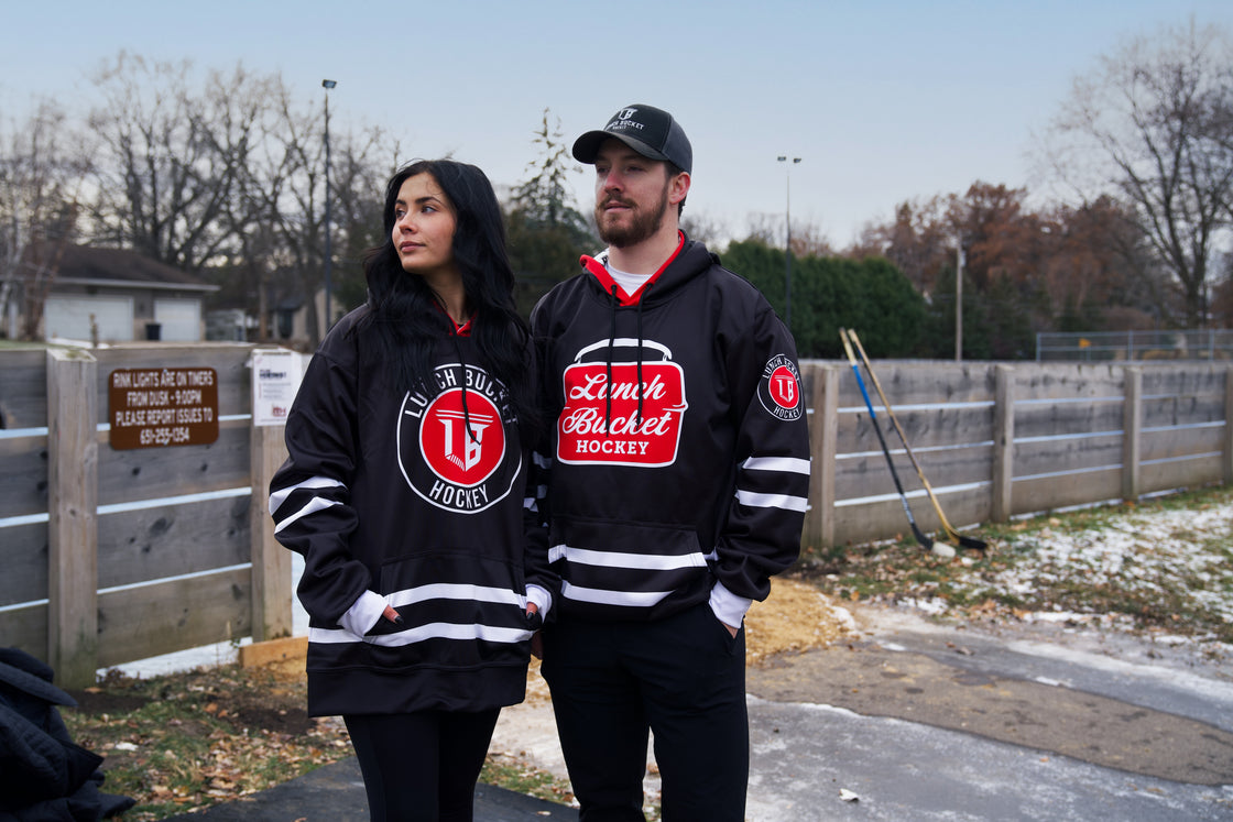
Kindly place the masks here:
MULTIPOLYGON (((73 691, 73 741, 105 757, 102 790, 137 800, 122 822, 154 822, 232 801, 351 755, 338 717, 311 718, 302 675, 217 665, 73 691)), ((567 781, 490 755, 481 781, 552 802, 567 781)))

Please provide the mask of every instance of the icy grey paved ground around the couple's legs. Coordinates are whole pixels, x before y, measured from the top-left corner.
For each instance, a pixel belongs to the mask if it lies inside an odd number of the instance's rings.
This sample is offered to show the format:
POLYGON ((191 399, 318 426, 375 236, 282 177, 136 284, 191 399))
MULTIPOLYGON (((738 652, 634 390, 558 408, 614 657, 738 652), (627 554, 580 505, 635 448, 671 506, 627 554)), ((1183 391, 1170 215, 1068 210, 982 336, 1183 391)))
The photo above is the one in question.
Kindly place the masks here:
MULTIPOLYGON (((1233 820, 1233 670, 1186 651, 896 617, 751 669, 748 690, 751 822, 1233 820)), ((191 820, 363 804, 349 760, 191 820)), ((481 786, 477 822, 545 818, 577 815, 481 786)))

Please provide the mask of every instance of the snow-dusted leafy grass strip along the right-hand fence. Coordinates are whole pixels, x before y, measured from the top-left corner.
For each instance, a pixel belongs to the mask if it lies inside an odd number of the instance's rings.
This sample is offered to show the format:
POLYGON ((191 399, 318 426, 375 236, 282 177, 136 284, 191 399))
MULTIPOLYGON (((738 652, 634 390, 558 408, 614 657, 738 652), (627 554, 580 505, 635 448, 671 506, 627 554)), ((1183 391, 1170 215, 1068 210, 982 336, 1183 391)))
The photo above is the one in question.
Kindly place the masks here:
POLYGON ((793 573, 836 599, 910 603, 943 617, 1073 614, 1233 643, 1233 535, 1227 523, 1213 532, 1195 525, 1231 504, 1233 487, 1205 488, 981 526, 984 557, 940 558, 909 537, 811 552, 793 573))

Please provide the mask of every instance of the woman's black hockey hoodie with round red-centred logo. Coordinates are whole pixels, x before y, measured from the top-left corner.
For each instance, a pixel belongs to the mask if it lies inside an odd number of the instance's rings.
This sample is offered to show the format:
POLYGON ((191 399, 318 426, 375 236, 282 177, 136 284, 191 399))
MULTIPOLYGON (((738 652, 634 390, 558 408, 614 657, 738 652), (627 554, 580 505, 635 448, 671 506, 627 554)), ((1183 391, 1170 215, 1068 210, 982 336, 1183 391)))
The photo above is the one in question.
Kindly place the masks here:
POLYGON ((365 311, 312 357, 270 484, 276 536, 305 557, 309 714, 519 702, 526 584, 555 585, 508 392, 469 336, 444 335, 435 385, 395 391, 355 329, 365 311), (365 636, 343 627, 365 590, 404 624, 381 619, 365 636))

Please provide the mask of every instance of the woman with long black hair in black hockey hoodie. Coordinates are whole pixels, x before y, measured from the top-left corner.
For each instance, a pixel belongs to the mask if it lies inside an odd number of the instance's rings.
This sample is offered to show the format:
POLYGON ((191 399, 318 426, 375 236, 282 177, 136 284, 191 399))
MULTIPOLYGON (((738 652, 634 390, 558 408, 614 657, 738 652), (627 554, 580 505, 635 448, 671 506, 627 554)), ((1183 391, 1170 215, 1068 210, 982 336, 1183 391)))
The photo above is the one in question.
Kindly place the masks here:
POLYGON ((385 230, 367 303, 305 373, 270 511, 305 557, 308 711, 344 717, 372 820, 471 820, 556 584, 523 505, 530 338, 480 169, 401 169, 385 230))

